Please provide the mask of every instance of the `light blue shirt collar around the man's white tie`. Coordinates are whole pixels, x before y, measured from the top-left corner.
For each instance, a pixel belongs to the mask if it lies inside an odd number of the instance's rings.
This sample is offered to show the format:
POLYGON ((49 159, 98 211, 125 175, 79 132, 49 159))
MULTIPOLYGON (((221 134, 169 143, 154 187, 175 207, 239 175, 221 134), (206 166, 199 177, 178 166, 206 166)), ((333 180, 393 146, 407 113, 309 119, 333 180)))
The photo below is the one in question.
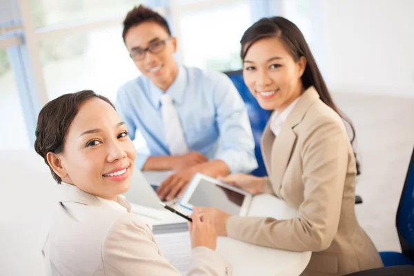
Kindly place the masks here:
MULTIPOLYGON (((186 69, 184 66, 178 66, 177 77, 172 81, 170 87, 166 90, 165 93, 168 93, 172 98, 174 103, 178 105, 183 102, 184 92, 187 86, 187 76, 186 69)), ((164 91, 157 88, 152 82, 150 82, 150 97, 152 98, 152 103, 154 106, 159 108, 161 106, 161 95, 164 94, 164 91)))

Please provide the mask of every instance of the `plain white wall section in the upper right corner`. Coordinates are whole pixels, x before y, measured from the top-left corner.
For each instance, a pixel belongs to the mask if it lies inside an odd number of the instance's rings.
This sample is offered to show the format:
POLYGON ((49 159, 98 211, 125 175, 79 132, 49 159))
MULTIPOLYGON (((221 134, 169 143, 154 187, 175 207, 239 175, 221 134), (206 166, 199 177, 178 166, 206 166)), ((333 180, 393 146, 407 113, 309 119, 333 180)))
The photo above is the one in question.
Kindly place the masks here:
POLYGON ((321 2, 331 91, 414 97, 414 1, 321 2))

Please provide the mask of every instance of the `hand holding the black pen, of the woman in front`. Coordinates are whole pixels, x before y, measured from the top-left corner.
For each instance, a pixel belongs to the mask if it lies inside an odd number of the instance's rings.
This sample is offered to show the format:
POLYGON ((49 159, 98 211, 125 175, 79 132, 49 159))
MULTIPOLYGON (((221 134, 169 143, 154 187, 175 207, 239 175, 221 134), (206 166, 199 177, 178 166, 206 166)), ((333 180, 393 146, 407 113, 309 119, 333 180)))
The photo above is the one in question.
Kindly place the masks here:
POLYGON ((191 215, 193 222, 188 222, 191 236, 191 248, 205 246, 211 250, 217 247, 217 233, 210 218, 200 217, 197 212, 191 215))

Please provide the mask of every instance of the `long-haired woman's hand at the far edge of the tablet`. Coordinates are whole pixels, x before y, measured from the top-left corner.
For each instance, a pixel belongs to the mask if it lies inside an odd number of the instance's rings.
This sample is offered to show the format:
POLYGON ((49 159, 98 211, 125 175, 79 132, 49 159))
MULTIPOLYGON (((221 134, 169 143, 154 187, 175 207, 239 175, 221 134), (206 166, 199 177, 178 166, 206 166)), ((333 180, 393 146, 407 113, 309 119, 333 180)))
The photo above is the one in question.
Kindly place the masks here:
POLYGON ((264 192, 264 183, 266 182, 264 177, 255 177, 244 173, 235 173, 227 177, 218 177, 218 179, 221 182, 242 188, 253 195, 262 194, 264 192))

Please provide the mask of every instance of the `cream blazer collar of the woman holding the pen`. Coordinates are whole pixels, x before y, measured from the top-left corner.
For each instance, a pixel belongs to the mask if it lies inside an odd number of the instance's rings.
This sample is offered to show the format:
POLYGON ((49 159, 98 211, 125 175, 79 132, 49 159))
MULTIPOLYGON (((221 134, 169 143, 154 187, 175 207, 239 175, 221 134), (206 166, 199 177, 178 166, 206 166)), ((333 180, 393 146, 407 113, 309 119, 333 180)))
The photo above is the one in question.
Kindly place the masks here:
POLYGON ((114 208, 114 204, 118 204, 118 208, 125 208, 128 213, 131 211, 131 206, 129 202, 123 195, 117 196, 117 201, 112 201, 108 199, 102 199, 90 193, 83 192, 75 185, 66 184, 62 182, 57 185, 57 197, 60 202, 76 202, 83 205, 100 205, 101 203, 106 204, 114 208), (113 203, 108 204, 107 201, 112 201, 113 203))

